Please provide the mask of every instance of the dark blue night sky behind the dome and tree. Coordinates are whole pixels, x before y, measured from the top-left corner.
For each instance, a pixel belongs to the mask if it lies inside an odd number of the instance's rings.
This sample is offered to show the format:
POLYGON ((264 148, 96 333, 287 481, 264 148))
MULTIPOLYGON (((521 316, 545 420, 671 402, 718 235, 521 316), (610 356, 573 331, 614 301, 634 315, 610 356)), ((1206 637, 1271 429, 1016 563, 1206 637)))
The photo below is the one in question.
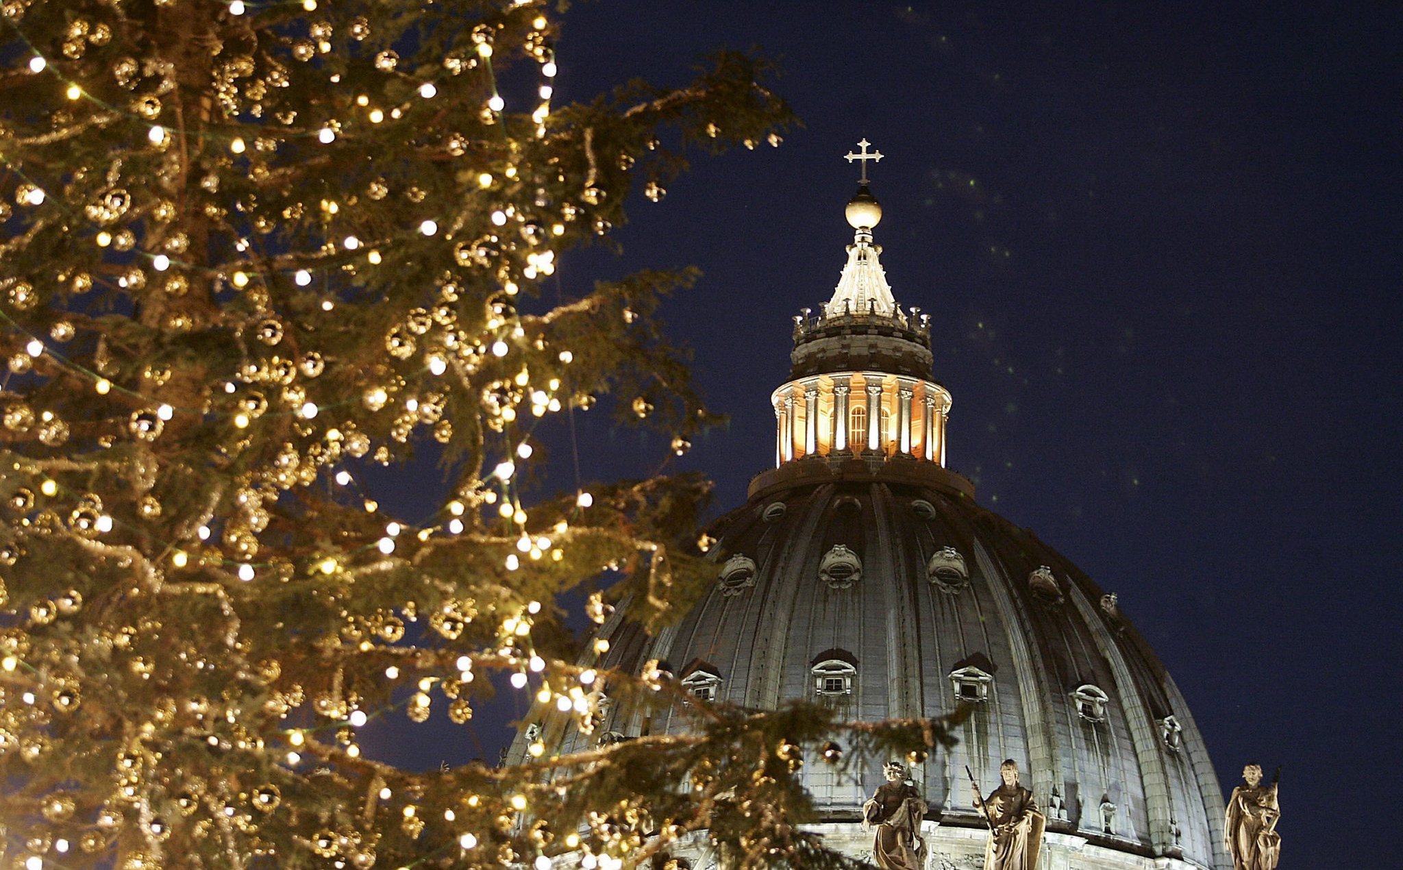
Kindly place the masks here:
MULTIPOLYGON (((1400 36, 1383 3, 577 4, 563 97, 683 83, 755 45, 805 128, 697 157, 638 198, 622 258, 567 257, 551 292, 704 271, 665 319, 731 422, 676 467, 737 507, 773 462, 790 317, 828 299, 852 239, 842 156, 870 139, 882 264, 933 316, 954 396, 950 466, 1120 595, 1225 789, 1243 762, 1285 766, 1284 867, 1383 866, 1376 780, 1403 779, 1400 36)), ((575 425, 586 479, 666 455, 598 411, 575 425)), ((466 738, 368 749, 495 759, 501 707, 466 738)))

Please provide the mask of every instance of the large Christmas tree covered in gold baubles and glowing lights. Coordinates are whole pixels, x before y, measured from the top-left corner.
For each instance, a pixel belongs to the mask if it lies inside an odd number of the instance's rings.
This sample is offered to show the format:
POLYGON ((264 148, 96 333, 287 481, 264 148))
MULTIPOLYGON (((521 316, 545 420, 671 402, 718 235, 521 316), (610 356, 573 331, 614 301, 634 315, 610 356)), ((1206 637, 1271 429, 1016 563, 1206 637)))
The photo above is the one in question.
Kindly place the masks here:
POLYGON ((707 422, 652 319, 689 275, 537 288, 689 152, 777 145, 766 65, 558 105, 543 3, 0 10, 6 860, 613 870, 693 832, 737 866, 840 860, 796 826, 804 755, 940 728, 596 672, 560 602, 678 613, 714 580, 704 486, 519 483, 596 396, 679 450, 707 422), (386 516, 358 474, 415 448, 450 495, 386 516), (361 752, 369 717, 466 723, 494 672, 585 731, 606 681, 697 727, 515 768, 361 752))

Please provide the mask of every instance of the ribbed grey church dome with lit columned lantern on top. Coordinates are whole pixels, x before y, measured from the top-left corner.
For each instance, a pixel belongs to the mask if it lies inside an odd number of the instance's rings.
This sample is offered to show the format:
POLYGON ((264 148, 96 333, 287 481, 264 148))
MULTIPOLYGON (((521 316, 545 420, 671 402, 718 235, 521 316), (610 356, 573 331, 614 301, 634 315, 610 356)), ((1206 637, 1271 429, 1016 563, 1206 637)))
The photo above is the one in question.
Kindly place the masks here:
MULTIPOLYGON (((849 260, 871 267, 875 254, 849 260)), ((1041 866, 1229 866, 1218 780, 1163 664, 1114 594, 944 467, 950 394, 912 368, 929 354, 929 321, 873 307, 797 319, 793 380, 772 397, 776 467, 710 528, 714 584, 657 634, 606 622, 602 664, 637 674, 657 660, 687 690, 753 709, 808 699, 863 721, 968 713, 958 744, 909 773, 929 804, 932 870, 982 867, 988 835, 965 766, 988 787, 1003 759, 1045 812, 1041 866), (839 334, 890 354, 847 345, 805 362, 815 335, 839 334)), ((620 706, 593 735, 557 730, 553 751, 687 721, 620 706)), ((825 842, 864 856, 861 805, 882 772, 808 765, 804 776, 825 842)))

